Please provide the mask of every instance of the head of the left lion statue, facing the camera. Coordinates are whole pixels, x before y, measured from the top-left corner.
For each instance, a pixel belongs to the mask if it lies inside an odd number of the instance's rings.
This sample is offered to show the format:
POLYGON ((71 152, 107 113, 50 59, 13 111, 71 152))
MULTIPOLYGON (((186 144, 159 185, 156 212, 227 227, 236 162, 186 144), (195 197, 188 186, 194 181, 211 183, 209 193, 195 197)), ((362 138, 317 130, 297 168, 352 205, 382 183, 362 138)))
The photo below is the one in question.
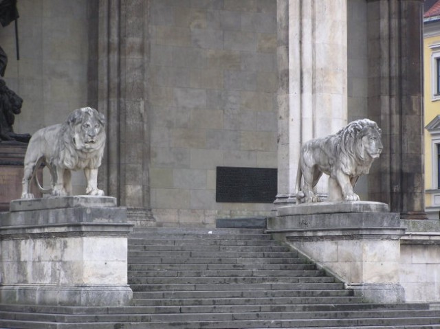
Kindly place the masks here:
POLYGON ((105 119, 96 109, 83 107, 67 117, 76 150, 92 152, 100 150, 105 141, 105 119))

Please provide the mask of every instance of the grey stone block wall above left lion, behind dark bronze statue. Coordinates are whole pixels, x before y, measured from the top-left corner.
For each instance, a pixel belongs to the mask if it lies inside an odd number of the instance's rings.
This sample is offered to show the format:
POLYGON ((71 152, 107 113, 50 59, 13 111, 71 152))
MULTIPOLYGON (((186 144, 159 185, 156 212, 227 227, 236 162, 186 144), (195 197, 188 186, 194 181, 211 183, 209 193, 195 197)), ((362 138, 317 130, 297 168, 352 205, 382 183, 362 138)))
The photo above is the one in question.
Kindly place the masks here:
MULTIPOLYGON (((87 0, 17 1, 20 60, 14 23, 0 27, 0 45, 8 55, 5 81, 23 98, 14 131, 34 133, 63 122, 87 105, 87 0)), ((75 174, 74 192, 84 194, 83 174, 75 174)))

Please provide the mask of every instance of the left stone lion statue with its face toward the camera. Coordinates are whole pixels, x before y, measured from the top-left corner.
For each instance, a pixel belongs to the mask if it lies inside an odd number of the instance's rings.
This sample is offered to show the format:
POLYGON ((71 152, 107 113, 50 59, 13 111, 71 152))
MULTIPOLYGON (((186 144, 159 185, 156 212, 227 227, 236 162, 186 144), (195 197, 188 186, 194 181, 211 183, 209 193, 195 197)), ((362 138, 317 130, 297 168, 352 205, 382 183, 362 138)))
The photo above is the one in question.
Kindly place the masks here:
POLYGON ((52 188, 43 193, 54 196, 72 194, 71 170, 84 170, 86 193, 102 196, 98 189, 98 168, 105 146, 105 119, 96 109, 83 107, 70 113, 63 124, 42 128, 32 136, 24 160, 23 192, 21 198, 34 198, 30 181, 36 169, 44 164, 52 176, 52 188))

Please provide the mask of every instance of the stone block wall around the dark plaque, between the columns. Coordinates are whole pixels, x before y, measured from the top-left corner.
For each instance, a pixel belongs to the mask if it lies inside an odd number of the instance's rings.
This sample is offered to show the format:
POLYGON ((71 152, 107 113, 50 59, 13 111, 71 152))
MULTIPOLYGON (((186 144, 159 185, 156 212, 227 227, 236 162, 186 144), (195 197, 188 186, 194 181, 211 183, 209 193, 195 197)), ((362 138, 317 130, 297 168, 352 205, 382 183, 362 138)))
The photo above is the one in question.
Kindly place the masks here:
POLYGON ((216 203, 216 167, 276 168, 276 1, 151 1, 151 207, 213 225, 272 204, 216 203))

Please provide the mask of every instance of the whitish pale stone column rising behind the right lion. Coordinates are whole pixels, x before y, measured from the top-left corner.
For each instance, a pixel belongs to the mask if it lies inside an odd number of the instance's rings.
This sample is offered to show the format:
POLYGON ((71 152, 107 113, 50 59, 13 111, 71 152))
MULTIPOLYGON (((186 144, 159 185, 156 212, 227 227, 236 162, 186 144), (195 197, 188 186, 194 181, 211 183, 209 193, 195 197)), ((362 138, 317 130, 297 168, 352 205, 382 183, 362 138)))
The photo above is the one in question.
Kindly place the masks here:
MULTIPOLYGON (((278 195, 294 202, 303 142, 347 124, 347 2, 278 0, 278 195)), ((327 192, 322 179, 318 192, 327 192)))

